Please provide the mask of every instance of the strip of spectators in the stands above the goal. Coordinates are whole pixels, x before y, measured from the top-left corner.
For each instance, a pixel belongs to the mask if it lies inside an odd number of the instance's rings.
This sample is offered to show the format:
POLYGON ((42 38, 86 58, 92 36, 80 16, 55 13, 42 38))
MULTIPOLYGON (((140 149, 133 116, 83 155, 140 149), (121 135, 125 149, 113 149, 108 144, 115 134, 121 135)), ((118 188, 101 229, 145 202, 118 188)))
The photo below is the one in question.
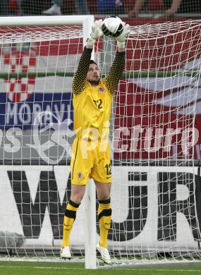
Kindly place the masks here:
POLYGON ((129 18, 140 13, 201 13, 200 0, 1 0, 1 16, 62 14, 128 14, 129 18))

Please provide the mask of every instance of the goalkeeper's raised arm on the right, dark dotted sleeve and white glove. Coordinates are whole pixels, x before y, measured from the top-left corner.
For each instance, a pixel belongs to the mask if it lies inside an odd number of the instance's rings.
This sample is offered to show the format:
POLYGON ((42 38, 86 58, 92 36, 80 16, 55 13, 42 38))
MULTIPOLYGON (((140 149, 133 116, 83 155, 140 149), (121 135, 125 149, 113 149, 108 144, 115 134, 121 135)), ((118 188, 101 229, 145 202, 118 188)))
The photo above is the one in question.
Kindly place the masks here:
POLYGON ((123 73, 123 68, 126 61, 126 38, 128 37, 129 33, 130 25, 124 23, 123 32, 121 35, 116 37, 118 51, 116 52, 114 62, 109 70, 108 75, 106 75, 104 78, 104 82, 111 94, 114 93, 114 89, 118 85, 118 82, 121 79, 121 75, 123 73))

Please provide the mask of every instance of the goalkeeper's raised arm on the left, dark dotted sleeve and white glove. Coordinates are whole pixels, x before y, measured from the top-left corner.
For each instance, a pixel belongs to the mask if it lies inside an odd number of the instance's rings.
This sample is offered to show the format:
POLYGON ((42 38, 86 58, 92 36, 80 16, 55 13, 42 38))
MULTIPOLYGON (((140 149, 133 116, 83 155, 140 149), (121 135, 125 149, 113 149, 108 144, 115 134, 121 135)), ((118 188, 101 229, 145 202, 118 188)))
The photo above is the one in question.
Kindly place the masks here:
POLYGON ((92 55, 93 46, 99 37, 103 35, 101 30, 102 20, 95 21, 92 27, 92 33, 87 39, 87 44, 84 48, 83 54, 80 57, 78 69, 73 78, 73 94, 81 94, 87 84, 87 72, 90 66, 90 59, 92 55))

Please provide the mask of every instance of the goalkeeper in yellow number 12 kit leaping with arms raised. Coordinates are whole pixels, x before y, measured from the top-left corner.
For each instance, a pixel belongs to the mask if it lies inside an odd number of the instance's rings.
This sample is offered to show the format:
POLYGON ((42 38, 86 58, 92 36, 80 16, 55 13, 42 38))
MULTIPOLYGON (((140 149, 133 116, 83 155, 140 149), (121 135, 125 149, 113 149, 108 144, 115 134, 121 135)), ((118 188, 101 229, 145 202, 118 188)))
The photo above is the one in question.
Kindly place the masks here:
POLYGON ((123 23, 123 32, 117 40, 118 51, 108 75, 100 79, 99 68, 91 60, 95 41, 103 35, 102 20, 95 21, 87 45, 80 57, 78 70, 73 79, 74 129, 71 157, 71 199, 66 207, 63 221, 61 257, 70 259, 69 237, 76 212, 85 194, 87 179, 95 181, 99 200, 98 219, 100 240, 97 250, 107 264, 111 257, 107 249, 107 236, 111 225, 111 159, 108 142, 111 102, 115 87, 123 73, 125 64, 125 42, 130 26, 123 23))

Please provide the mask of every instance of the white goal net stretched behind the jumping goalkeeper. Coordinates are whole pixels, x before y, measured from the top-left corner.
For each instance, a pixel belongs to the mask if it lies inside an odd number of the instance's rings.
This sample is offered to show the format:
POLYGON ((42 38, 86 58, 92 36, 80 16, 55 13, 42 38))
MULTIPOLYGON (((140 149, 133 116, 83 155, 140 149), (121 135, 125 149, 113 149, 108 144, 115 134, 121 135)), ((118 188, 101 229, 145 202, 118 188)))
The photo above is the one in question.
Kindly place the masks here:
MULTIPOLYGON (((201 20, 131 30, 110 121, 112 262, 200 259, 201 20)), ((1 27, 0 39, 1 259, 59 260, 83 28, 1 27)), ((107 37, 95 44, 102 75, 115 51, 107 37)), ((74 259, 85 255, 84 212, 74 259)))

